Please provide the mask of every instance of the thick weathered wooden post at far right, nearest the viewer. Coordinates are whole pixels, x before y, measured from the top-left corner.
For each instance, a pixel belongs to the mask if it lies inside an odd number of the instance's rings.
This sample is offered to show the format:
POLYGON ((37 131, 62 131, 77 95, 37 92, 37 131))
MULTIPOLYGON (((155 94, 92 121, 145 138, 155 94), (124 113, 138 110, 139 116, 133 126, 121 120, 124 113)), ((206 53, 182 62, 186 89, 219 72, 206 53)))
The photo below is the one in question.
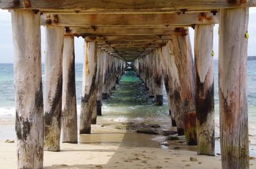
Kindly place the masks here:
POLYGON ((219 98, 222 168, 249 168, 246 66, 248 8, 220 10, 219 98))

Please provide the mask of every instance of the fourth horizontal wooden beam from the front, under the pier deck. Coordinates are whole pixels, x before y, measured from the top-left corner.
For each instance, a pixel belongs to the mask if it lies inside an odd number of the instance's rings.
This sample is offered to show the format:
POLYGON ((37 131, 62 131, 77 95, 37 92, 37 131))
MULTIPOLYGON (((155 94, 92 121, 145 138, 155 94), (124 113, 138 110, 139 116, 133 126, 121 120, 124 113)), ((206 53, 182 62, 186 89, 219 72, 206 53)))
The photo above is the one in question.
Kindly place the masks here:
POLYGON ((172 40, 172 36, 86 36, 86 41, 150 41, 150 40, 172 40))

